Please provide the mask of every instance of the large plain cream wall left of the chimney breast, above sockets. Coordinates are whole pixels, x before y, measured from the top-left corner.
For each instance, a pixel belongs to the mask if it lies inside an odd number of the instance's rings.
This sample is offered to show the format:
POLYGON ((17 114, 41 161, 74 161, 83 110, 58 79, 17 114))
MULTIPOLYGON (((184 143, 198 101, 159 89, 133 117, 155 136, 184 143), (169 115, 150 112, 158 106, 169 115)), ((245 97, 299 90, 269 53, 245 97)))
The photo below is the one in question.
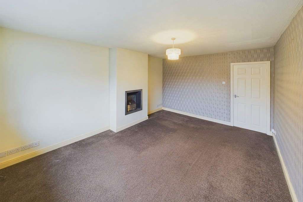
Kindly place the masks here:
POLYGON ((0 163, 109 126, 108 48, 0 33, 0 163))

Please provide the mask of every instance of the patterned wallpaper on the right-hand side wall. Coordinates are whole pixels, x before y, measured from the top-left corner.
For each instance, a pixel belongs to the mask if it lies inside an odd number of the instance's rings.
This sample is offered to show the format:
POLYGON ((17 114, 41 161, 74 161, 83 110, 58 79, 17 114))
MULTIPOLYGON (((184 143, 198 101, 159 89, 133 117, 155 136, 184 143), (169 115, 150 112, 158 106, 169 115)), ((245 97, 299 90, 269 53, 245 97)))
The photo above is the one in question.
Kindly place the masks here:
POLYGON ((274 128, 298 201, 303 201, 303 8, 276 43, 274 128))

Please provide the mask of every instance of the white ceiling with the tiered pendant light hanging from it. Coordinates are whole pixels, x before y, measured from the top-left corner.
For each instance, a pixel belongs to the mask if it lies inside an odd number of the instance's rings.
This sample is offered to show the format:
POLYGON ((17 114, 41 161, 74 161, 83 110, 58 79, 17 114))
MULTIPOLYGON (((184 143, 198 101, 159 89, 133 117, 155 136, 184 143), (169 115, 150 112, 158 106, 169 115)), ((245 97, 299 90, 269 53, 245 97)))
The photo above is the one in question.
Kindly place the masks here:
POLYGON ((0 0, 0 26, 165 58, 275 45, 303 0, 0 0))

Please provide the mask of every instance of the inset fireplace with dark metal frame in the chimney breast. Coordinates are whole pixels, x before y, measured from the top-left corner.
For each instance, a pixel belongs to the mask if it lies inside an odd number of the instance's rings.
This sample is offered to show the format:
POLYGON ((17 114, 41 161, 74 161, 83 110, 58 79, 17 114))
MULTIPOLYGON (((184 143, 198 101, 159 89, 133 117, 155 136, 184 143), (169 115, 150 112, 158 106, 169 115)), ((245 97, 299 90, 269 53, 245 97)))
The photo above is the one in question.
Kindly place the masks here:
POLYGON ((125 91, 125 115, 142 110, 142 89, 125 91))

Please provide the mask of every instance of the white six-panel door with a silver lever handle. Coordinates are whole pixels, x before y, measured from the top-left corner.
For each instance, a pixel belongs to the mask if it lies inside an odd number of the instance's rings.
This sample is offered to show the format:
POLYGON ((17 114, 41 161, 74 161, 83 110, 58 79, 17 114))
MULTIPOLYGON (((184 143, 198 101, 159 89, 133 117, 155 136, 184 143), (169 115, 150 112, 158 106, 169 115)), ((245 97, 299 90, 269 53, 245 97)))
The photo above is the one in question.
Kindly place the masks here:
POLYGON ((270 61, 231 63, 231 67, 234 126, 268 133, 270 61))

